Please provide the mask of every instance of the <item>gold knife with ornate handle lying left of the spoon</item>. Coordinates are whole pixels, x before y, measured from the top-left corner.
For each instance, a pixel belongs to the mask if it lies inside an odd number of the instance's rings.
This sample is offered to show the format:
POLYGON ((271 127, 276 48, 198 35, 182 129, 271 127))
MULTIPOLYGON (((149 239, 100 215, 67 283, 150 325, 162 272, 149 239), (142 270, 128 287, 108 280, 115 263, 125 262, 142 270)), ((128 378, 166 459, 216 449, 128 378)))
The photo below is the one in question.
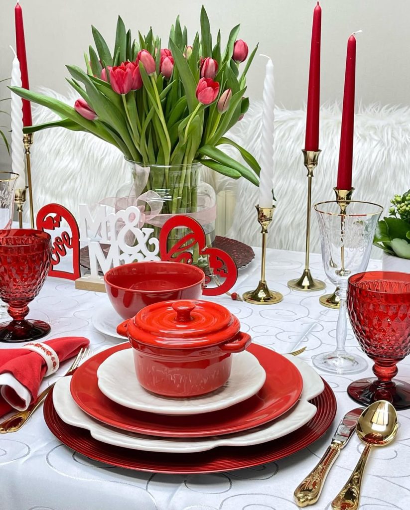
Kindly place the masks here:
POLYGON ((293 494, 298 506, 312 505, 319 499, 327 473, 338 458, 340 450, 349 441, 363 409, 363 407, 356 407, 356 409, 349 411, 339 423, 331 444, 324 452, 323 457, 293 494))

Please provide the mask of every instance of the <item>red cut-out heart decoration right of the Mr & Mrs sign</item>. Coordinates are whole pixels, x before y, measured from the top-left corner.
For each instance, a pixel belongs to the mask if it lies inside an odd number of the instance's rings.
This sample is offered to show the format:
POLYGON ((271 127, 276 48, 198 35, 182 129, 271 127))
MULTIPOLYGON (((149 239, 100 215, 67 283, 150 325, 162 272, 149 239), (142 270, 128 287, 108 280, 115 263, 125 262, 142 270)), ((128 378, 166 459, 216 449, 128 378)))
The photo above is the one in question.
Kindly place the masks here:
MULTIPOLYGON (((167 220, 160 232, 160 256, 161 260, 182 262, 192 264, 192 253, 188 251, 195 244, 198 244, 199 254, 208 256, 209 266, 216 276, 225 278, 225 281, 217 287, 205 287, 202 291, 204 296, 219 296, 225 294, 235 285, 238 278, 238 268, 233 259, 223 250, 219 248, 209 248, 206 243, 206 235, 201 225, 191 218, 183 214, 177 214, 167 220), (187 234, 181 240, 177 241, 168 251, 168 237, 173 228, 186 227, 192 233, 187 234), (224 269, 224 267, 226 269, 224 269)), ((211 278, 207 277, 206 284, 210 283, 211 278)))

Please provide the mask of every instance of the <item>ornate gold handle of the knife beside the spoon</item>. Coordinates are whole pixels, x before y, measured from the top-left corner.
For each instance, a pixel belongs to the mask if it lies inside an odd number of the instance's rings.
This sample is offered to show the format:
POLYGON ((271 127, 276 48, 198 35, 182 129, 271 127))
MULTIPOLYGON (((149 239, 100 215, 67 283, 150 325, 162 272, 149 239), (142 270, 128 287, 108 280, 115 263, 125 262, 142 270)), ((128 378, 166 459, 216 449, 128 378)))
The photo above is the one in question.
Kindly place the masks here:
POLYGON ((297 487, 293 496, 298 506, 313 505, 319 499, 327 473, 336 461, 342 445, 332 443, 308 476, 297 487))

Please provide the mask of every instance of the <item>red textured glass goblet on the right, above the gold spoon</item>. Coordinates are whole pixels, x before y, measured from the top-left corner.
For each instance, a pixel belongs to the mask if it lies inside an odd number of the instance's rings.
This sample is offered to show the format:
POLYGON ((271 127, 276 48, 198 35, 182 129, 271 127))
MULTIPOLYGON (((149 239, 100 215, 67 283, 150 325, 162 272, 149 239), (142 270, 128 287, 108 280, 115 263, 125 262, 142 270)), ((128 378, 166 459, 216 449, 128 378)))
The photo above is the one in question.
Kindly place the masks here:
POLYGON ((352 382, 347 393, 368 405, 388 400, 398 410, 410 408, 410 384, 392 380, 396 364, 410 352, 410 274, 369 271, 349 278, 350 323, 364 352, 374 361, 376 379, 352 382))

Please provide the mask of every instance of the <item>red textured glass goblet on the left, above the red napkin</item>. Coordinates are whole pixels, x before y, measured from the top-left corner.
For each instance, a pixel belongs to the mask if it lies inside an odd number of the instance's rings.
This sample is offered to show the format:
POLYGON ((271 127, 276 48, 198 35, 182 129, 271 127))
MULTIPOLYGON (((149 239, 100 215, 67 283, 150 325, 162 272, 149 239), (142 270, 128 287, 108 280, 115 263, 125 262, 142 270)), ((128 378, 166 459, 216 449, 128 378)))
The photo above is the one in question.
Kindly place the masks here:
POLYGON ((13 318, 0 324, 0 342, 27 342, 49 333, 50 326, 40 320, 27 320, 27 303, 40 292, 52 256, 49 234, 19 228, 0 231, 0 298, 13 318))

